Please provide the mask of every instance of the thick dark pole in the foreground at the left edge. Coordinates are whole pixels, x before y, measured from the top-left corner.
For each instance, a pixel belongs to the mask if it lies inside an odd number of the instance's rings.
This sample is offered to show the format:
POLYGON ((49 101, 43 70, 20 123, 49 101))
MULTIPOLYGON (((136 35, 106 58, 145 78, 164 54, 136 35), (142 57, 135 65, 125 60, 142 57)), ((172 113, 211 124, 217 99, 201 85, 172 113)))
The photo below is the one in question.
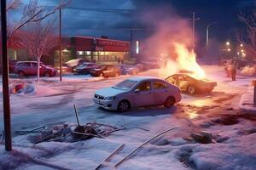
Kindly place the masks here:
POLYGON ((1 31, 2 31, 2 69, 3 69, 3 122, 5 150, 12 150, 10 105, 9 105, 9 66, 7 55, 7 20, 6 0, 1 0, 1 31))

